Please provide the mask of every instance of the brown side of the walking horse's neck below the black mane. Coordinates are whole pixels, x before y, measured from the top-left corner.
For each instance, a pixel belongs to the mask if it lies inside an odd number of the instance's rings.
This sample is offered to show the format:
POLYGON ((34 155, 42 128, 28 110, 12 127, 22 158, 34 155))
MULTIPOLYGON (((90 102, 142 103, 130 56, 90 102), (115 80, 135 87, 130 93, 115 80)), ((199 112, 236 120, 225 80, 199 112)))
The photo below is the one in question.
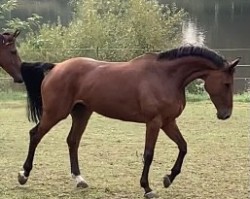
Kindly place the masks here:
POLYGON ((176 79, 177 86, 183 89, 195 79, 204 80, 209 72, 214 69, 209 60, 199 57, 179 58, 166 66, 167 74, 172 74, 171 76, 176 79))

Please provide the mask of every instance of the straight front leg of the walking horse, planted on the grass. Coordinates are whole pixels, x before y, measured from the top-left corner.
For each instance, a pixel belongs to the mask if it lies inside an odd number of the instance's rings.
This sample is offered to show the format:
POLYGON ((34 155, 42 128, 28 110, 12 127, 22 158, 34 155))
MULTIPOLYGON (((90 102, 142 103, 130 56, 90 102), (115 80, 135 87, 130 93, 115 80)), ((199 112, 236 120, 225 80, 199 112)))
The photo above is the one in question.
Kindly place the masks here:
POLYGON ((159 130, 161 127, 161 119, 155 118, 152 121, 146 124, 146 140, 145 140, 145 149, 144 149, 144 167, 142 171, 142 176, 140 180, 141 186, 145 190, 146 198, 154 198, 157 195, 152 191, 148 182, 148 174, 150 165, 154 157, 154 148, 158 138, 159 130))

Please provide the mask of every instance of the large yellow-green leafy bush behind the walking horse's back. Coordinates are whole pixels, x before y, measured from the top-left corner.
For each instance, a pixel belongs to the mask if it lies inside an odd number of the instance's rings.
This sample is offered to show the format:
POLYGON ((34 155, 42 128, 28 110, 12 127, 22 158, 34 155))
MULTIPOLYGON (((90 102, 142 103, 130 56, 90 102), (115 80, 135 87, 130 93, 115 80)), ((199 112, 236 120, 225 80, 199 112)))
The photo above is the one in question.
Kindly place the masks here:
POLYGON ((156 0, 71 0, 74 18, 67 26, 46 24, 21 44, 24 59, 61 61, 68 57, 128 60, 179 44, 185 15, 156 0))

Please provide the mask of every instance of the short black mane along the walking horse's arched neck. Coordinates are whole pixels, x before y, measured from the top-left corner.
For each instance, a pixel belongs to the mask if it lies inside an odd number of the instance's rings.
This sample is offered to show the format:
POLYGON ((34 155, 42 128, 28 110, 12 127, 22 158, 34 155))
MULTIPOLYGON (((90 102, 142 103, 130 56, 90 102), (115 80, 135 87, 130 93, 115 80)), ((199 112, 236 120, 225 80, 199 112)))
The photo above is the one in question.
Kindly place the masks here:
POLYGON ((158 54, 158 60, 173 60, 186 56, 198 56, 212 61, 217 67, 223 67, 226 59, 215 51, 200 46, 181 46, 158 54))

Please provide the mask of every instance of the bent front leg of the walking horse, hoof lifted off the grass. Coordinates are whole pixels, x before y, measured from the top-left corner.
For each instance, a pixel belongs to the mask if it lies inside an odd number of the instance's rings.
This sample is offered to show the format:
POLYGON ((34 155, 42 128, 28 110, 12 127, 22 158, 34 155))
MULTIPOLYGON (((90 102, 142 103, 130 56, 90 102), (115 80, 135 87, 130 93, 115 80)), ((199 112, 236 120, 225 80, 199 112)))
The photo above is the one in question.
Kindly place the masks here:
POLYGON ((176 125, 176 121, 164 124, 162 130, 171 140, 177 144, 179 148, 179 154, 173 168, 171 169, 171 174, 165 175, 163 179, 164 187, 167 188, 174 181, 175 177, 181 172, 182 163, 187 153, 187 143, 184 140, 178 126, 176 125))

